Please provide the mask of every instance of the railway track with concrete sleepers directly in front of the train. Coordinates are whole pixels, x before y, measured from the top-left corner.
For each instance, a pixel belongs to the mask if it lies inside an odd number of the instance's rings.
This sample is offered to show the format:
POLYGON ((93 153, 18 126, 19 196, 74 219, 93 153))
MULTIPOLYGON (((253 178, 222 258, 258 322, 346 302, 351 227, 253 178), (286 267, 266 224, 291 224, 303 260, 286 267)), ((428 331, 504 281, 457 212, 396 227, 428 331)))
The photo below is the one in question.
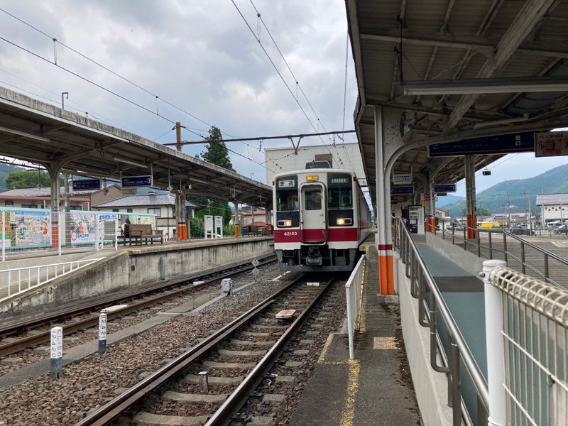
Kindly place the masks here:
POLYGON ((110 425, 117 420, 119 424, 196 426, 251 420, 245 412, 235 416, 251 395, 258 398, 253 391, 261 383, 279 381, 268 373, 333 280, 307 286, 302 277, 297 278, 77 426, 110 425))

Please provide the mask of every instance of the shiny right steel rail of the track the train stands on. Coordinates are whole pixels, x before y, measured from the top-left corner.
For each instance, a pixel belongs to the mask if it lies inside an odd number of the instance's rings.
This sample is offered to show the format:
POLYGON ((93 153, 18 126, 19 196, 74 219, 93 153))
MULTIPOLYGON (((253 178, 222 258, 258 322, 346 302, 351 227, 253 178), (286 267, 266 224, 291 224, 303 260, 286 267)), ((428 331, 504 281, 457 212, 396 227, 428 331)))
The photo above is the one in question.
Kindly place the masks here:
POLYGON ((263 356, 258 364, 256 364, 253 370, 246 376, 244 381, 242 381, 233 393, 226 398, 221 407, 219 407, 219 409, 211 417, 209 417, 209 420, 207 420, 207 423, 205 423, 204 426, 227 426, 231 423, 232 417, 241 409, 244 403, 246 403, 246 400, 249 399, 250 393, 258 387, 258 384, 261 383, 263 377, 266 373, 268 373, 268 371, 270 371, 274 361, 278 359, 280 354, 282 354, 284 347, 296 334, 297 329, 300 328, 300 325, 304 322, 307 315, 310 315, 312 308, 320 300, 325 290, 334 281, 334 279, 335 278, 331 278, 327 281, 320 293, 318 293, 315 299, 312 300, 310 305, 308 305, 305 310, 298 315, 296 320, 290 324, 290 327, 286 329, 280 339, 278 339, 274 346, 268 350, 266 355, 263 356))

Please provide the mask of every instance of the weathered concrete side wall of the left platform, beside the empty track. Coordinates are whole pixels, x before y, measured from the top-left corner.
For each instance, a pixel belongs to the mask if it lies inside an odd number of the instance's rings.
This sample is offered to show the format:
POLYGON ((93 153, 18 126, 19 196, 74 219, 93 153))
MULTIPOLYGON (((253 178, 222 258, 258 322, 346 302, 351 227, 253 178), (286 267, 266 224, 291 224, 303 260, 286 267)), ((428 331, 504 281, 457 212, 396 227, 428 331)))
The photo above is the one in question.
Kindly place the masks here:
POLYGON ((175 280, 273 252, 271 237, 129 249, 53 280, 26 295, 13 297, 0 306, 0 311, 4 312, 4 317, 25 316, 37 312, 38 308, 49 312, 77 301, 86 302, 109 293, 163 282, 160 279, 160 258, 165 262, 165 279, 175 280))

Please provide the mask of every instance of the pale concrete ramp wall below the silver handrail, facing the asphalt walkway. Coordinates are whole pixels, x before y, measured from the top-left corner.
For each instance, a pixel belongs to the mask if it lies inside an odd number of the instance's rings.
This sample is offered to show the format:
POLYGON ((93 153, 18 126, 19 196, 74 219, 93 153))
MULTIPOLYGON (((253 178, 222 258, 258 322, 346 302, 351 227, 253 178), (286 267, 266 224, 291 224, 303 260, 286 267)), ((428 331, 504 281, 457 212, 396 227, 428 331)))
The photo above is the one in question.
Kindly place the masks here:
POLYGON ((425 426, 452 425, 446 376, 430 367, 430 329, 418 323, 418 301, 410 295, 410 280, 398 253, 393 254, 395 286, 400 301, 400 322, 410 373, 425 426))

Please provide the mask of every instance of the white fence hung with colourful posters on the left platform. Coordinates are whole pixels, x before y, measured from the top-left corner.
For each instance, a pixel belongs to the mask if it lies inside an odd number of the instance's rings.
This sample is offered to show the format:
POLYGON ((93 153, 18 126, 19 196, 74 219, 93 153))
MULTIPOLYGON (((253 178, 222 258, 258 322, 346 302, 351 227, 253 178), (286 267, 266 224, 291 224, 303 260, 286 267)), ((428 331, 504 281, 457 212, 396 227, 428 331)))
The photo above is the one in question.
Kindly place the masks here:
POLYGON ((118 248, 124 223, 156 226, 155 214, 52 212, 0 207, 1 257, 118 248))

